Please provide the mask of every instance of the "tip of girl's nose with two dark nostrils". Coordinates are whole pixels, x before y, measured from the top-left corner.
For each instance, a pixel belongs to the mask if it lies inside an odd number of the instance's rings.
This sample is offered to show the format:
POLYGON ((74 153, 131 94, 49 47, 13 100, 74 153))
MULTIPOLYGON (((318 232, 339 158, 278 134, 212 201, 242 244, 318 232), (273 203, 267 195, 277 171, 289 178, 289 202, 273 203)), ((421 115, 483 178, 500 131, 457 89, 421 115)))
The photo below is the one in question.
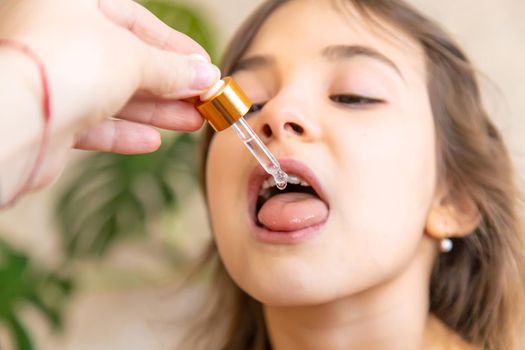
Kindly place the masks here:
POLYGON ((309 118, 304 107, 292 101, 269 101, 261 110, 255 126, 265 142, 271 140, 300 139, 313 141, 319 137, 320 126, 309 118))

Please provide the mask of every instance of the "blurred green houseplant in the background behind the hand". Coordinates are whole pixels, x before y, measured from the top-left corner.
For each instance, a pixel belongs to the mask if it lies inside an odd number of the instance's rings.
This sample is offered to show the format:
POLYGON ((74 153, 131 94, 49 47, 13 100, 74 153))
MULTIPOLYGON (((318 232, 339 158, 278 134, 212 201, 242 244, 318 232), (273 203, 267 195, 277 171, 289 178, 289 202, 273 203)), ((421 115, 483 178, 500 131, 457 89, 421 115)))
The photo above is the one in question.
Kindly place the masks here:
MULTIPOLYGON (((215 58, 211 31, 198 11, 168 0, 141 2, 215 58)), ((61 327, 64 305, 74 292, 76 261, 101 258, 130 235, 147 240, 148 225, 164 211, 177 209, 180 195, 187 191, 177 183, 195 183, 194 149, 194 136, 169 133, 153 154, 83 158, 56 207, 62 266, 67 269, 37 267, 28 254, 0 239, 0 327, 8 330, 18 350, 36 348, 21 321, 27 307, 36 308, 53 328, 61 327)))

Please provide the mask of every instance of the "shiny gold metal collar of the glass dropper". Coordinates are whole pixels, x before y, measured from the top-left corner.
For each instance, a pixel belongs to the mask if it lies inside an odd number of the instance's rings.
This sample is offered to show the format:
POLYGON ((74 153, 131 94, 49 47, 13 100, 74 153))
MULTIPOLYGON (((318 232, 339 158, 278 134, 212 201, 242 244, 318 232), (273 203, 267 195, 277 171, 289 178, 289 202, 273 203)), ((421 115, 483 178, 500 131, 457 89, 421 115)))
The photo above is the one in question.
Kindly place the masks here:
POLYGON ((244 117, 252 103, 231 77, 225 77, 195 103, 215 131, 222 131, 244 117))

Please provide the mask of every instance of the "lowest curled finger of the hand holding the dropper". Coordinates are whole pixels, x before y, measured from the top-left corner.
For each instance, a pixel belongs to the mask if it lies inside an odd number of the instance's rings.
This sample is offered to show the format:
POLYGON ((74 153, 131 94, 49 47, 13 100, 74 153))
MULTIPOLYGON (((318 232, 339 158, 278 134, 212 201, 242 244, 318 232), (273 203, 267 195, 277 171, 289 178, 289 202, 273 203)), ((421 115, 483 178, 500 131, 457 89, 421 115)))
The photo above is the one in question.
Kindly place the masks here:
POLYGON ((75 148, 141 154, 156 151, 160 143, 160 134, 152 127, 123 120, 106 120, 80 135, 75 148))

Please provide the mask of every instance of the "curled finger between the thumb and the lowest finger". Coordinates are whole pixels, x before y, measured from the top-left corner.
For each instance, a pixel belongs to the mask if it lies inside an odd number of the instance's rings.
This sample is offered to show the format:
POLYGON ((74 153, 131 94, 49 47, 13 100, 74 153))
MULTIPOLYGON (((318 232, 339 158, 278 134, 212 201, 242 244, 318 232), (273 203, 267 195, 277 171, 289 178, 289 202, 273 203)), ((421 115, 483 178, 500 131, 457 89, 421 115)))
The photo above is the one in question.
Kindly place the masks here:
POLYGON ((191 103, 145 98, 132 99, 117 118, 177 131, 196 131, 204 122, 191 103))

